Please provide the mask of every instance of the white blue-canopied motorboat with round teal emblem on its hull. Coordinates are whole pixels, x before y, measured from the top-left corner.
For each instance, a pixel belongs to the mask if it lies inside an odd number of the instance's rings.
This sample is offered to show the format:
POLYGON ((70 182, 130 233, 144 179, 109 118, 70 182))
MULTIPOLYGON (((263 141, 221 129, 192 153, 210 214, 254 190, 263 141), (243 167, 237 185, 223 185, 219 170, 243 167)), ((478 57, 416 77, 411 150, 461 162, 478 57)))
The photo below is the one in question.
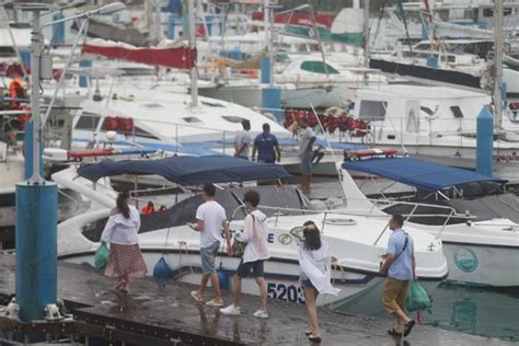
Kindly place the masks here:
POLYGON ((519 199, 504 193, 504 181, 402 157, 354 159, 342 168, 412 187, 388 195, 379 189, 379 198, 370 200, 348 173, 343 176, 346 210, 361 207, 376 215, 406 215, 406 227, 420 227, 441 239, 448 281, 519 287, 519 199))

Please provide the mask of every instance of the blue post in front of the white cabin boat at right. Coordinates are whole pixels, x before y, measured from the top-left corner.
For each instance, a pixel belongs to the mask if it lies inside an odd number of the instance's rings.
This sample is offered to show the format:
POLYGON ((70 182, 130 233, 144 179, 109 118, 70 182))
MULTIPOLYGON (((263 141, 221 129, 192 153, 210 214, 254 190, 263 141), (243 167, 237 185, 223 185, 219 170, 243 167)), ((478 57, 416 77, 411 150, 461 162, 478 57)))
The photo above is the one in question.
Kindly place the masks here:
POLYGON ((476 137, 476 172, 492 176, 494 117, 488 106, 484 106, 477 115, 476 137))

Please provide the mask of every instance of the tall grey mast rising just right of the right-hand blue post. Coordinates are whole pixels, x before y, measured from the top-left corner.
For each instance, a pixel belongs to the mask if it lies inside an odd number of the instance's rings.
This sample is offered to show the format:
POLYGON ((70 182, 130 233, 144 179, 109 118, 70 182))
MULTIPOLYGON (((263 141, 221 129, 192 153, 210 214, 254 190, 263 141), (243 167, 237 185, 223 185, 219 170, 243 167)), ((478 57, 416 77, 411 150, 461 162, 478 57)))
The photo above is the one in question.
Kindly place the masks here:
POLYGON ((504 54, 504 23, 503 1, 494 2, 494 117, 497 128, 503 123, 503 54, 504 54))

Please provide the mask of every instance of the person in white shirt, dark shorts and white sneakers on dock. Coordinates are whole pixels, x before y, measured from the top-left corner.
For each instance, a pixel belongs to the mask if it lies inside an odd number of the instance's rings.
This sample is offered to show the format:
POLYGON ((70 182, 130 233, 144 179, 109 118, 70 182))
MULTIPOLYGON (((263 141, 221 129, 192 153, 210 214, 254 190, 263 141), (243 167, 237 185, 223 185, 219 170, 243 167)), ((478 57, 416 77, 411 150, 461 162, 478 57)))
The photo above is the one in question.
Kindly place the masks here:
POLYGON ((221 313, 228 315, 239 315, 240 295, 242 289, 242 279, 246 278, 252 272, 257 287, 260 288, 260 297, 262 307, 254 312, 254 316, 258 319, 268 319, 267 311, 267 285, 264 278, 264 261, 270 257, 267 247, 268 228, 267 217, 258 208, 260 194, 256 191, 249 191, 243 197, 249 215, 243 221, 243 232, 238 232, 235 238, 240 242, 246 243, 243 257, 237 268, 233 277, 233 300, 232 304, 221 309, 221 313))

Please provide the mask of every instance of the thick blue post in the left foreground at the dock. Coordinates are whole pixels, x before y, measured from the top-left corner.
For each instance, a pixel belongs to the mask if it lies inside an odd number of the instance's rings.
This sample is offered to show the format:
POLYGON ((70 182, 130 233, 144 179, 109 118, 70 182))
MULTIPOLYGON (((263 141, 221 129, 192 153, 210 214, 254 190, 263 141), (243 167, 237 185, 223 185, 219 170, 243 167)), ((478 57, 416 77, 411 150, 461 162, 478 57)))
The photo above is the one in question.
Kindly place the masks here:
POLYGON ((16 184, 16 301, 20 319, 41 320, 56 303, 58 188, 16 184))

